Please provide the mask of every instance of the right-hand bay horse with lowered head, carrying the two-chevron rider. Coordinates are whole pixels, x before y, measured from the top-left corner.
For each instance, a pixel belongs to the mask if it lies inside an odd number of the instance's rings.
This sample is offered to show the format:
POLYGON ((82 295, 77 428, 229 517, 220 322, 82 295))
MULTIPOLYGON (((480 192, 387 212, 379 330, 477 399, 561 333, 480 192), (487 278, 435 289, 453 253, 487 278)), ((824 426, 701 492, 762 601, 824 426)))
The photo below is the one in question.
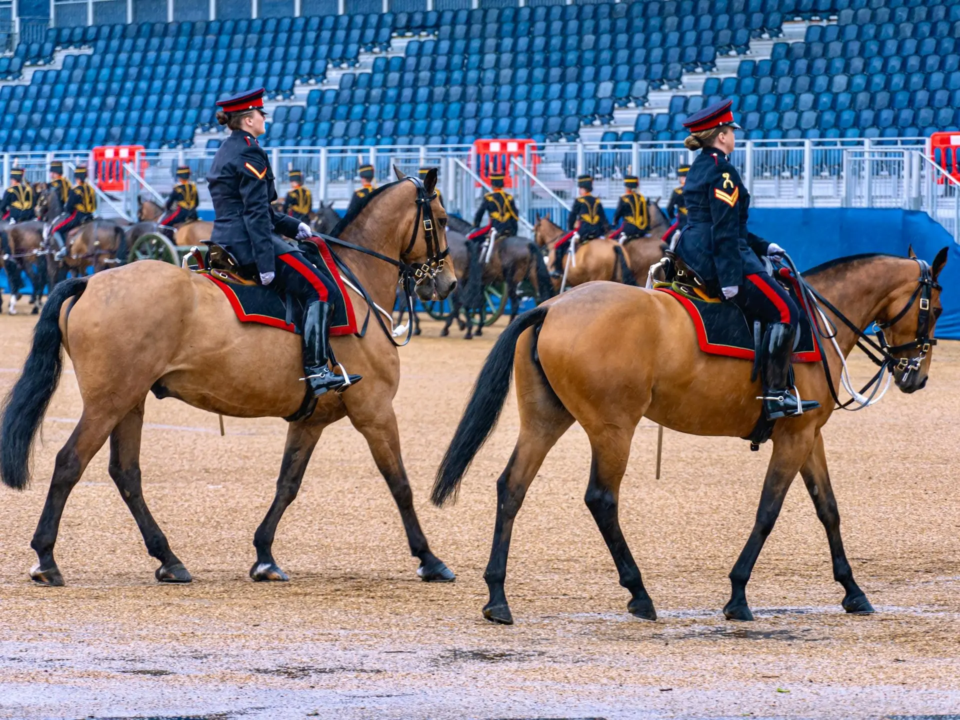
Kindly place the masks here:
MULTIPOLYGON (((836 393, 828 378, 840 376, 842 357, 855 345, 871 342, 863 331, 876 322, 889 340, 889 345, 875 344, 875 349, 883 348, 884 358, 876 379, 888 368, 902 392, 923 388, 929 350, 935 343, 934 325, 943 311, 936 278, 946 262, 946 248, 937 253, 932 268, 915 258, 855 255, 804 274, 805 282, 827 300, 822 304, 836 327, 838 349, 821 338, 824 364, 794 368, 800 396, 818 400, 821 407, 778 420, 774 426, 773 454, 756 522, 730 573, 731 599, 724 608, 728 619, 753 619, 747 581, 798 472, 827 531, 833 577, 846 593, 843 608, 873 612, 853 580, 830 486, 822 429, 833 412, 836 393)), ((455 494, 473 457, 490 437, 513 375, 520 427, 513 455, 496 484, 496 523, 484 573, 490 601, 484 616, 493 622, 513 622, 503 586, 514 518, 543 458, 576 421, 586 430, 592 448, 585 499, 610 549, 620 585, 631 592, 627 609, 655 620, 653 601, 617 517, 620 481, 636 424, 646 417, 692 435, 748 436, 761 412, 757 397, 761 388, 751 380, 752 365, 702 352, 693 323, 674 298, 612 282, 576 287, 507 327, 477 377, 431 495, 434 503, 443 505, 455 494)))

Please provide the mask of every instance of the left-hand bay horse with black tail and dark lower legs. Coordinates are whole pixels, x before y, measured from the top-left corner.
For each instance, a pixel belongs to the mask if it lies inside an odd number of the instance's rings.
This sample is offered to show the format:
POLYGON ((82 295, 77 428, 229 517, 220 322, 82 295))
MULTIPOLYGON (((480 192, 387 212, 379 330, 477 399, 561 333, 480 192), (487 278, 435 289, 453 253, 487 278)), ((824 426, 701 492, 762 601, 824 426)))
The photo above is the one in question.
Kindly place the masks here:
MULTIPOLYGON (((443 262, 445 215, 434 194, 436 181, 436 171, 431 171, 422 181, 383 185, 335 228, 334 234, 347 244, 336 252, 352 269, 358 287, 367 288, 365 296, 352 296, 357 322, 364 322, 368 310, 375 320, 363 337, 336 337, 331 343, 337 357, 364 379, 342 395, 327 393, 312 415, 290 421, 276 496, 253 537, 253 580, 288 580, 272 554, 277 523, 297 496, 324 427, 344 417, 366 438, 393 493, 411 553, 420 559, 420 578, 454 579, 430 552, 414 511, 393 408, 399 356, 389 328, 371 307, 391 306, 398 269, 405 280, 420 279, 416 289, 422 299, 442 299, 453 289, 453 271, 443 262), (436 231, 427 235, 424 226, 431 219, 436 231)), ((73 361, 84 410, 57 455, 31 543, 38 558, 31 577, 44 585, 63 585, 54 561, 63 506, 87 463, 109 439, 110 477, 149 553, 160 563, 156 579, 190 582, 190 573, 170 549, 141 490, 146 396, 153 392, 176 397, 237 418, 292 418, 304 404, 300 337, 264 324, 240 323, 227 297, 207 278, 155 260, 61 283, 43 308, 24 371, 0 419, 0 477, 12 488, 22 489, 29 480, 31 448, 60 377, 61 346, 73 361)))

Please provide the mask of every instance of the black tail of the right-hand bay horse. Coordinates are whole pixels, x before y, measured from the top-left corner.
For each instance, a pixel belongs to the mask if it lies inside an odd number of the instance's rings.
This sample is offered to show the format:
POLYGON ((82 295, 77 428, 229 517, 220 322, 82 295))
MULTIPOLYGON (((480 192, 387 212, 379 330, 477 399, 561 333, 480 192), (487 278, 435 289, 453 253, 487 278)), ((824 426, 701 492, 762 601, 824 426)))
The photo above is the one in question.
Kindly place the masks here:
POLYGON ((450 495, 456 495, 473 457, 493 432, 510 390, 516 340, 531 325, 542 323, 546 312, 547 308, 542 306, 527 310, 500 333, 483 370, 477 375, 464 417, 460 419, 453 440, 446 448, 444 461, 437 470, 437 479, 430 493, 435 505, 442 506, 450 495))

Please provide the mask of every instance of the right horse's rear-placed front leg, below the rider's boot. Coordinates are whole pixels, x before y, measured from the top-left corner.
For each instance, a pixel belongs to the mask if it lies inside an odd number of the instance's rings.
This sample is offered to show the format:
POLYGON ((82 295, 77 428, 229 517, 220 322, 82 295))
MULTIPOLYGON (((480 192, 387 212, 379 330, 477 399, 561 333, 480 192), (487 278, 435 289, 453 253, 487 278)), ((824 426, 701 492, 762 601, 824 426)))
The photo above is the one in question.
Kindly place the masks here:
MULTIPOLYGON (((793 419, 789 422, 800 423, 803 420, 793 419)), ((730 572, 732 592, 730 602, 723 609, 728 620, 753 620, 754 613, 747 605, 747 582, 753 572, 756 558, 760 554, 763 543, 774 529, 774 523, 780 516, 783 498, 786 496, 793 478, 797 476, 806 457, 813 446, 813 428, 798 427, 796 430, 781 430, 774 434, 774 452, 767 467, 767 476, 763 481, 763 491, 760 492, 760 504, 756 509, 756 521, 750 538, 740 557, 730 572)))

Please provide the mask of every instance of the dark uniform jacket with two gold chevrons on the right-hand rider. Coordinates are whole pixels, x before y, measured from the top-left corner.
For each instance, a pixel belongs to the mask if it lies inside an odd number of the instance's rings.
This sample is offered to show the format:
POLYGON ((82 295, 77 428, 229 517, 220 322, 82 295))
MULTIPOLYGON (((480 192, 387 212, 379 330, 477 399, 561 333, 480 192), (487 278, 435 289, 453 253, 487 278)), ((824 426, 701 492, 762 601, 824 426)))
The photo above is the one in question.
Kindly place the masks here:
POLYGON ((723 152, 705 148, 697 156, 684 197, 686 227, 677 252, 697 275, 723 288, 765 272, 758 255, 769 243, 747 230, 750 193, 723 152))

